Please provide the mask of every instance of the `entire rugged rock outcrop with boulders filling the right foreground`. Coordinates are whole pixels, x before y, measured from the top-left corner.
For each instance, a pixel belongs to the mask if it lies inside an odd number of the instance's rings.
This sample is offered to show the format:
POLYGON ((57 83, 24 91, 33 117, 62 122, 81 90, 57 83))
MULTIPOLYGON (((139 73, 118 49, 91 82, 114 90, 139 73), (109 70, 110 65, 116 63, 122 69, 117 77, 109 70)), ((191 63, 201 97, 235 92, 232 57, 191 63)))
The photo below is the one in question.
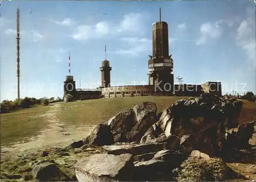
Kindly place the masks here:
MULTIPOLYGON (((175 171, 189 155, 187 164, 191 158, 200 158, 203 165, 205 160, 214 162, 212 157, 248 147, 256 121, 239 125, 242 105, 237 99, 203 94, 178 100, 158 115, 152 102, 123 110, 97 125, 82 144, 72 144, 73 148, 96 145, 104 150, 78 162, 76 177, 79 181, 175 180, 175 171)), ((183 167, 182 175, 188 169, 183 167)))

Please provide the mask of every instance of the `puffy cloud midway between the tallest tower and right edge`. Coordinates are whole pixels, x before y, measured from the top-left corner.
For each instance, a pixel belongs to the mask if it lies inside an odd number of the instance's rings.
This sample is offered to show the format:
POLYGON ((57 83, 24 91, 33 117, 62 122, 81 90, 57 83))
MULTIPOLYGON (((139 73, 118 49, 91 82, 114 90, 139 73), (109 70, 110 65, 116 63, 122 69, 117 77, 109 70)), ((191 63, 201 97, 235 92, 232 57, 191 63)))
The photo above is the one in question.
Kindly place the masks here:
POLYGON ((219 38, 222 34, 222 30, 220 28, 222 22, 223 20, 219 20, 215 23, 207 22, 202 24, 200 27, 201 37, 199 38, 196 44, 205 44, 208 39, 219 38))

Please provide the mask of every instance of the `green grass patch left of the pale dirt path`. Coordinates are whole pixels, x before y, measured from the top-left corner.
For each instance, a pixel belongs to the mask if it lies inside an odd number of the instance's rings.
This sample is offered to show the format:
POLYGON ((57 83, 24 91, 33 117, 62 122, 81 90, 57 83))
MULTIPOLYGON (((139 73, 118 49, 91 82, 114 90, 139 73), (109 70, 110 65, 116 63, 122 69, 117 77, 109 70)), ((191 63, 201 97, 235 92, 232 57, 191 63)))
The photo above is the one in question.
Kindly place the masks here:
POLYGON ((1 146, 23 141, 44 129, 48 123, 39 115, 43 115, 49 108, 40 105, 1 114, 1 146))

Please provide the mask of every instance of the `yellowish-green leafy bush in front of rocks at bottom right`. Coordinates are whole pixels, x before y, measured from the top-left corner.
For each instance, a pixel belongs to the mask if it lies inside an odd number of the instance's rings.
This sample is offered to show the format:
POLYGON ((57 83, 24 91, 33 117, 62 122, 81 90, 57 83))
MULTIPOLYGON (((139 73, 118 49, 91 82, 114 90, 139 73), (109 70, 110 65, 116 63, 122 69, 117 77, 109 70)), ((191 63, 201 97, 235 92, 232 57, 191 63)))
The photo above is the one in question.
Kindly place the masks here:
POLYGON ((178 181, 223 181, 227 166, 221 158, 188 157, 181 165, 178 181))

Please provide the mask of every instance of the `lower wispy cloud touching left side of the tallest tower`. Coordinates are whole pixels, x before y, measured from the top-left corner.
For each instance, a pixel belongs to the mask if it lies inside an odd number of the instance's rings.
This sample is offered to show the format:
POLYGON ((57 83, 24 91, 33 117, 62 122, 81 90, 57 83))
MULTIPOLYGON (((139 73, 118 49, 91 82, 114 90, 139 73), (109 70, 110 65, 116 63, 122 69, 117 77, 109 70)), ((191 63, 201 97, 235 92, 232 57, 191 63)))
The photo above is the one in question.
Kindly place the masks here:
POLYGON ((116 54, 129 54, 131 56, 139 56, 139 53, 147 52, 152 49, 152 40, 146 38, 121 38, 129 44, 130 48, 127 50, 120 49, 115 51, 116 54))

